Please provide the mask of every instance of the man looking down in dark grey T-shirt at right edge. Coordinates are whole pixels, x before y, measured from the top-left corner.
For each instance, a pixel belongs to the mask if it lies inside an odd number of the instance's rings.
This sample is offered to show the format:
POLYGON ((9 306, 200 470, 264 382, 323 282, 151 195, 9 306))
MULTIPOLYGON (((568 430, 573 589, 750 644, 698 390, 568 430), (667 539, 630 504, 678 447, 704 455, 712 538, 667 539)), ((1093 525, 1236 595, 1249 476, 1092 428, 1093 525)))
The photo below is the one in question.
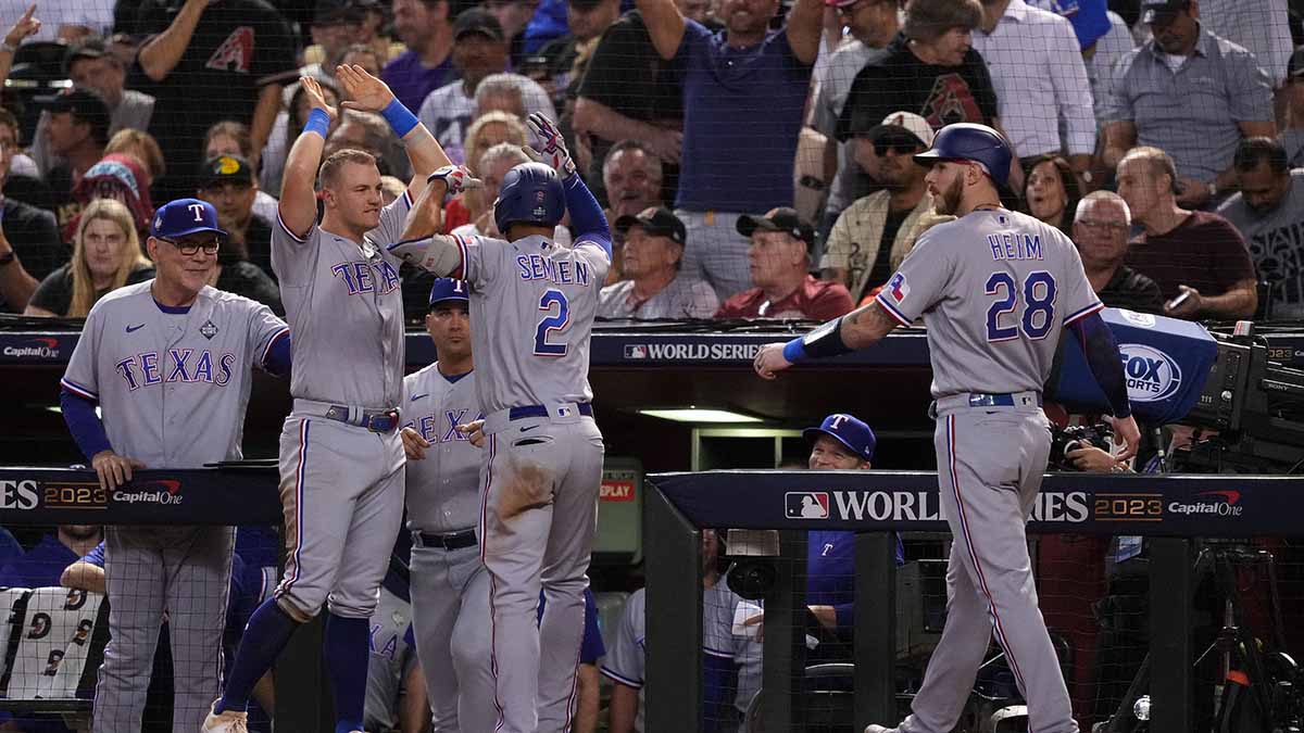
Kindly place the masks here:
POLYGON ((1240 193, 1219 209, 1249 244, 1260 279, 1271 283, 1270 318, 1304 317, 1304 171, 1290 170, 1270 137, 1244 140, 1232 160, 1240 193))

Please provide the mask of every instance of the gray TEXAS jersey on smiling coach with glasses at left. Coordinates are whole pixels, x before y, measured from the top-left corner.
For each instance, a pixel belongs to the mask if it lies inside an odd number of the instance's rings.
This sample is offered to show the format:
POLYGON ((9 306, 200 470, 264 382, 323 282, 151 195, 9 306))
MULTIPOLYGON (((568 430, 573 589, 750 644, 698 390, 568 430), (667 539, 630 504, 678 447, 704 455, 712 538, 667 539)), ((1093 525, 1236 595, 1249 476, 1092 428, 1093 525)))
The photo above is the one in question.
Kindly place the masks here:
POLYGON ((151 468, 239 460, 249 366, 262 366, 289 330, 266 305, 211 287, 189 308, 164 310, 151 284, 91 308, 61 385, 99 402, 119 455, 151 468))

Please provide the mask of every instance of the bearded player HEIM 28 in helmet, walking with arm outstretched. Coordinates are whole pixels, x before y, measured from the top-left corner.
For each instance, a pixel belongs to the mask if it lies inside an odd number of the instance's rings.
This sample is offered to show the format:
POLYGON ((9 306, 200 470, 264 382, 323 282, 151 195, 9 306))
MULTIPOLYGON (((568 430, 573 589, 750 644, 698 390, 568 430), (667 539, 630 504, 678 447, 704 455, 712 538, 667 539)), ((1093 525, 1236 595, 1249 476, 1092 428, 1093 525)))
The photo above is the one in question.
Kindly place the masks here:
POLYGON ((1028 700, 1028 729, 1077 730, 1024 533, 1051 443, 1041 390, 1065 329, 1110 398, 1127 443, 1121 458, 1140 440, 1118 346, 1077 249, 1056 228, 1000 206, 1011 157, 991 128, 943 128, 915 160, 931 166, 938 213, 958 219, 921 236, 875 303, 756 356, 756 372, 775 378, 794 363, 870 346, 921 316, 928 329, 938 481, 955 541, 947 625, 898 728, 908 733, 955 726, 992 633, 1028 700))

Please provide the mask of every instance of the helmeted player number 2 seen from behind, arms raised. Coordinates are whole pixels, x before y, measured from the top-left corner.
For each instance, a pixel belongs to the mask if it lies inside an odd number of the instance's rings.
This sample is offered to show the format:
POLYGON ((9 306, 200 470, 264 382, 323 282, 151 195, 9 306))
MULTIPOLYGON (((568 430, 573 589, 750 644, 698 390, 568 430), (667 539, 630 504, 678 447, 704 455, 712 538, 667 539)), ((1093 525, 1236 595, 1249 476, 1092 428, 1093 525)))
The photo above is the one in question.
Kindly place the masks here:
MULTIPOLYGON (((550 164, 522 163, 503 177, 494 220, 506 240, 407 232, 391 252, 471 286, 496 728, 556 733, 570 728, 575 704, 602 475, 588 348, 612 240, 561 133, 540 115, 529 125, 542 141, 529 153, 550 164), (567 210, 578 233, 559 247, 553 227, 567 210), (548 603, 536 625, 540 587, 548 603)), ((409 227, 433 226, 445 189, 436 179, 409 227)))

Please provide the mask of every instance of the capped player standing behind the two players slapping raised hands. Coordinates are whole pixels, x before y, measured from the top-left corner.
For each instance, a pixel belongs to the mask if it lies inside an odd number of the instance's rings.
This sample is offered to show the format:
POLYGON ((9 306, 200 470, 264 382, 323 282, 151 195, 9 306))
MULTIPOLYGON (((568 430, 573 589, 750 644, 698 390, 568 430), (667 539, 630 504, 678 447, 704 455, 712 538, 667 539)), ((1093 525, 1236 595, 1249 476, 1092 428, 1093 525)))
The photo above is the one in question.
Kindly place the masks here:
POLYGON ((468 288, 439 278, 425 330, 439 360, 403 380, 412 630, 437 733, 493 730, 489 574, 480 562, 482 451, 458 430, 484 417, 472 370, 468 288))

